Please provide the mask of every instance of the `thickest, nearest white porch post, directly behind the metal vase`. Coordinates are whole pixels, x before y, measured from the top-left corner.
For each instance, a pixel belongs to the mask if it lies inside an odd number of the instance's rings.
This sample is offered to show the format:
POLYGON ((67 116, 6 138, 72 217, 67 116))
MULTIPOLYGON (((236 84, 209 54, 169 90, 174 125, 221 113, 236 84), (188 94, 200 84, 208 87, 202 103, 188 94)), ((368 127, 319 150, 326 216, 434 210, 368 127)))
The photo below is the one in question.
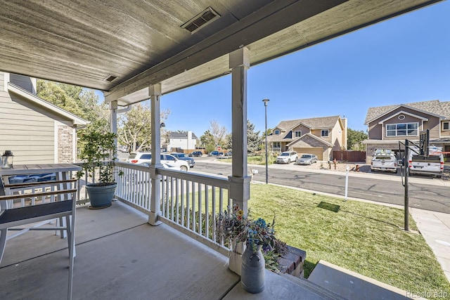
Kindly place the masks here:
POLYGON ((250 181, 247 168, 247 70, 250 67, 250 51, 240 48, 229 54, 231 69, 231 116, 233 161, 229 176, 230 197, 233 204, 248 214, 250 181))

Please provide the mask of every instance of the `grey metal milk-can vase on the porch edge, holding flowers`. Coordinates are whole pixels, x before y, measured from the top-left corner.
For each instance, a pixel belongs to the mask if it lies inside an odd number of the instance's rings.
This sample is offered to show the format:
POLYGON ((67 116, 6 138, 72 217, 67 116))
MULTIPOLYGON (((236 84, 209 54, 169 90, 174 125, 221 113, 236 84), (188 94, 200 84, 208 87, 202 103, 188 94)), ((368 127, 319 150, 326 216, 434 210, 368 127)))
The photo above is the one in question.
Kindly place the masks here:
POLYGON ((264 261, 261 249, 262 245, 258 245, 257 251, 253 252, 252 245, 248 244, 244 254, 242 254, 240 284, 245 291, 252 294, 257 294, 264 290, 266 261, 264 261))

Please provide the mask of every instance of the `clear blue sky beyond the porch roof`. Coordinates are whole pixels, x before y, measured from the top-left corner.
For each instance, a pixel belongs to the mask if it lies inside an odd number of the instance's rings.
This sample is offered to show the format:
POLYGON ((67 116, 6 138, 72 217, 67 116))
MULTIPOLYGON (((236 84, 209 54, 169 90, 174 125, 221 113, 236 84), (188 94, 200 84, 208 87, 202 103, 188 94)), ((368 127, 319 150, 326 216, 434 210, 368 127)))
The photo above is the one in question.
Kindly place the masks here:
MULTIPOLYGON (((264 131, 282 120, 345 116, 366 131, 368 107, 450 100, 450 1, 325 41, 248 70, 248 119, 264 131)), ((103 97, 102 97, 103 98, 103 97)), ((161 97, 166 130, 197 136, 210 121, 231 131, 231 75, 161 97)))

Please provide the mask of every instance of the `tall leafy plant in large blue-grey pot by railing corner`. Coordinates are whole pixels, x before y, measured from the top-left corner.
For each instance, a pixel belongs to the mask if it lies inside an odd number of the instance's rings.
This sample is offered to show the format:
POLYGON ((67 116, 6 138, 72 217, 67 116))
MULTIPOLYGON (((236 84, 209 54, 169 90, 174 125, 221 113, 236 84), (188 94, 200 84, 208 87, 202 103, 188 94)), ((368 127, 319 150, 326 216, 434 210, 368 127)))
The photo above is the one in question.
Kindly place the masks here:
POLYGON ((83 160, 83 171, 79 172, 78 177, 83 176, 86 171, 89 177, 94 178, 94 183, 86 184, 91 208, 94 209, 109 207, 114 198, 117 187, 113 173, 113 157, 117 152, 116 137, 115 133, 101 131, 84 131, 79 137, 79 158, 83 160))

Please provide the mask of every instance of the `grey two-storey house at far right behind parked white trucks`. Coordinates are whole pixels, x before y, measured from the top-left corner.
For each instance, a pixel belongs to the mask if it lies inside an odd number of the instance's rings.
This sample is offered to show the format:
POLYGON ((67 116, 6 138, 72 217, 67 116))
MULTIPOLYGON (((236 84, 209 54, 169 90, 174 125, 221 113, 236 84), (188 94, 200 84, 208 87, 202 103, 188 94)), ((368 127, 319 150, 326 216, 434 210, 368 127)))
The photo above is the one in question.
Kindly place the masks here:
MULTIPOLYGON (((420 131, 430 129, 430 145, 450 151, 450 101, 423 101, 408 104, 370 107, 366 122, 368 139, 366 162, 376 149, 399 151, 399 141, 418 143, 420 131)), ((403 147, 401 147, 403 148, 403 147)))

